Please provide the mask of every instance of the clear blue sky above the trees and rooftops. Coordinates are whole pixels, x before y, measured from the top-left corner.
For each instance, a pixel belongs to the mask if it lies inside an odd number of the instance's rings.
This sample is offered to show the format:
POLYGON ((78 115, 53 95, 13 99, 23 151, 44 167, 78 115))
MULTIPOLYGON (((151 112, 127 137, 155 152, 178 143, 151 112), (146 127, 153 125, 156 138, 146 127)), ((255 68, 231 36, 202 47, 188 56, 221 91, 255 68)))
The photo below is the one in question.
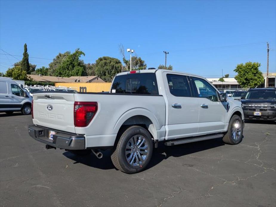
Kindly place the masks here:
MULTIPOLYGON (((265 72, 268 41, 269 71, 275 72, 275 2, 0 1, 0 47, 22 55, 27 43, 30 57, 47 59, 80 48, 84 62, 93 63, 101 56, 122 60, 123 44, 148 67, 164 64, 166 50, 174 70, 219 77, 222 69, 234 75, 236 65, 247 61, 260 62, 265 72)), ((1 72, 18 61, 0 58, 1 72)), ((50 62, 30 58, 37 67, 50 62)))

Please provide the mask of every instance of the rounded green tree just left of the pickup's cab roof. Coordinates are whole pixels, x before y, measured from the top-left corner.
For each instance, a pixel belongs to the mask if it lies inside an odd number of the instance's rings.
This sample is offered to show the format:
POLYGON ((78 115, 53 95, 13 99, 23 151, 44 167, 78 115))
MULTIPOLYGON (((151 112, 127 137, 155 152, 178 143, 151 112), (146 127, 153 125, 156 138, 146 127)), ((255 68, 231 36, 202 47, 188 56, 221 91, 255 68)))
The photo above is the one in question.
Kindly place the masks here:
POLYGON ((122 63, 117 58, 101 57, 96 60, 95 75, 106 82, 111 82, 113 77, 121 72, 122 63))

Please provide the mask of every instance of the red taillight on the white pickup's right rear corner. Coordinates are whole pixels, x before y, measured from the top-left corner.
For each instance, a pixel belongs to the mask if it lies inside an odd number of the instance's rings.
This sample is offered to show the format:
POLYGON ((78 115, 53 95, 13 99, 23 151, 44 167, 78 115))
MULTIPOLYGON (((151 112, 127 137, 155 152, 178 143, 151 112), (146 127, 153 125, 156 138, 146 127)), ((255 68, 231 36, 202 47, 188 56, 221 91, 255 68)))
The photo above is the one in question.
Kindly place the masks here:
POLYGON ((98 110, 97 102, 74 103, 74 124, 78 127, 87 126, 98 110))

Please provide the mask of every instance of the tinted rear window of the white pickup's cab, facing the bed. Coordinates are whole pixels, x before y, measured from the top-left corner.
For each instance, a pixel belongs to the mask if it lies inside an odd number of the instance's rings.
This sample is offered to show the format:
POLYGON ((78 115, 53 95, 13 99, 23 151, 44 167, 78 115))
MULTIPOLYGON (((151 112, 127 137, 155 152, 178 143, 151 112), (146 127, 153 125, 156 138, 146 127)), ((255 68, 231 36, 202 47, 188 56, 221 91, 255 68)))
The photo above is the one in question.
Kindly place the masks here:
POLYGON ((155 73, 117 75, 113 81, 111 92, 159 95, 155 73))

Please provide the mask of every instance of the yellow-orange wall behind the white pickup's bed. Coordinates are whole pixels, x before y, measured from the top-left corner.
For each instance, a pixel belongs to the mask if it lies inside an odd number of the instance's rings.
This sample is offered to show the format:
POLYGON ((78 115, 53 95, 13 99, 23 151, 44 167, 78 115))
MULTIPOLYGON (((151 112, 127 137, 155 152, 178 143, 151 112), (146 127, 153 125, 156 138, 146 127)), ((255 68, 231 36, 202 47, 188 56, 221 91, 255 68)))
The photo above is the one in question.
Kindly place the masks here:
POLYGON ((86 92, 102 92, 109 91, 111 83, 55 83, 55 87, 76 87, 75 90, 80 91, 80 87, 86 87, 86 92))

